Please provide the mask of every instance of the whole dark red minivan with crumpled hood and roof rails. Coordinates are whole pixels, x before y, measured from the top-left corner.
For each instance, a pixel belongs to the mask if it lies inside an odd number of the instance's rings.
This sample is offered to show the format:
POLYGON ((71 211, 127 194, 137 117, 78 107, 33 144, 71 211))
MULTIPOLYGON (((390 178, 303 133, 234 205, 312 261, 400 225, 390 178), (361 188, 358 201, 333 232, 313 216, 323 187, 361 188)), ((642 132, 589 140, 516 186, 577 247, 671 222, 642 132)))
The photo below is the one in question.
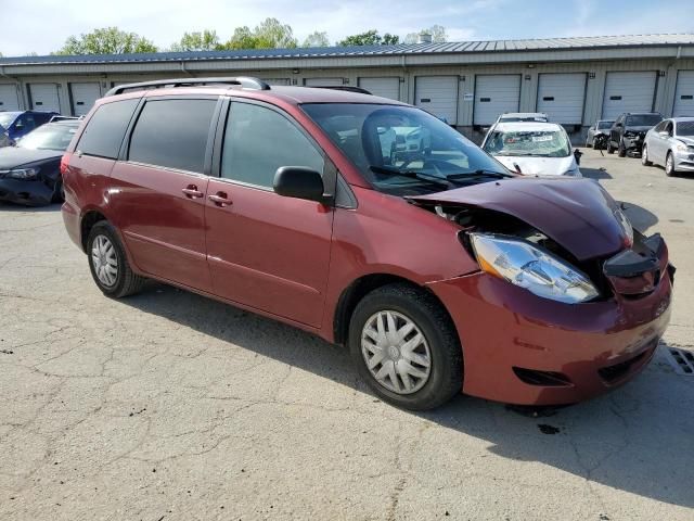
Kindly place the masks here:
POLYGON ((670 316, 665 242, 597 182, 512 174, 365 93, 120 86, 61 169, 104 294, 152 278, 313 332, 399 407, 588 398, 643 369, 670 316))

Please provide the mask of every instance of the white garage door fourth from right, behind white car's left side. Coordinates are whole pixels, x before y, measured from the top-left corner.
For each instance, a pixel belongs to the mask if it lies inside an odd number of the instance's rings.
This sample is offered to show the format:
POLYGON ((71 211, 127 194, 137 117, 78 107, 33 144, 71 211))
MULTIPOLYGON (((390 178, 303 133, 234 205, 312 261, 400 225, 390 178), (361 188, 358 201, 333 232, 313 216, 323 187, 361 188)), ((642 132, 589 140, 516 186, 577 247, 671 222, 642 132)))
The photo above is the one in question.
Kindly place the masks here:
POLYGON ((518 112, 520 75, 479 75, 475 78, 475 125, 491 125, 504 112, 518 112))

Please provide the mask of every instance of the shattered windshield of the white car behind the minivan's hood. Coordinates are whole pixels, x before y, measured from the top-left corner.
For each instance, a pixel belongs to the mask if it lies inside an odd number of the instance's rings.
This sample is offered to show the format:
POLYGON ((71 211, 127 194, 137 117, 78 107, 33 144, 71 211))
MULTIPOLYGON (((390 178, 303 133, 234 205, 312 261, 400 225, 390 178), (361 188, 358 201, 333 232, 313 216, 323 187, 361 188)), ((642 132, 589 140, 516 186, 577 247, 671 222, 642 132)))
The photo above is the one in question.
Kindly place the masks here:
POLYGON ((566 157, 571 147, 561 130, 497 130, 485 142, 491 155, 566 157))

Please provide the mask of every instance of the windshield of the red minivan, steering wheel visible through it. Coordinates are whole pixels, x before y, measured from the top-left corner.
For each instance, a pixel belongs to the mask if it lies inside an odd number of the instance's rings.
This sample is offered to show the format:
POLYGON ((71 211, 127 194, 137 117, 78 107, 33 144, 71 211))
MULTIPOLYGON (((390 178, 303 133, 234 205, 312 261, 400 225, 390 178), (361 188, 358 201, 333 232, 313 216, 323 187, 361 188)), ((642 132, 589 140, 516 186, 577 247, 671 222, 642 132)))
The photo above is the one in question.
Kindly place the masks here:
POLYGON ((419 109, 367 103, 307 103, 301 109, 383 192, 419 195, 513 177, 473 142, 419 109))

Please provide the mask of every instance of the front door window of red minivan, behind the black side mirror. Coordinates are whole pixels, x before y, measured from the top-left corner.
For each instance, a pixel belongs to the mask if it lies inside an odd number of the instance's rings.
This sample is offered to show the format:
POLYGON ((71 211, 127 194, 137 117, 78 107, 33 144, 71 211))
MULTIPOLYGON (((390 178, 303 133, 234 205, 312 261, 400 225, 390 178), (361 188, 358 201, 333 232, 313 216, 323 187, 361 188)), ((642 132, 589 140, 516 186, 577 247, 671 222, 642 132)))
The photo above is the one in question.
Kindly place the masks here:
POLYGON ((323 156, 286 117, 265 106, 231 104, 221 155, 221 177, 272 188, 281 166, 323 171, 323 156))

